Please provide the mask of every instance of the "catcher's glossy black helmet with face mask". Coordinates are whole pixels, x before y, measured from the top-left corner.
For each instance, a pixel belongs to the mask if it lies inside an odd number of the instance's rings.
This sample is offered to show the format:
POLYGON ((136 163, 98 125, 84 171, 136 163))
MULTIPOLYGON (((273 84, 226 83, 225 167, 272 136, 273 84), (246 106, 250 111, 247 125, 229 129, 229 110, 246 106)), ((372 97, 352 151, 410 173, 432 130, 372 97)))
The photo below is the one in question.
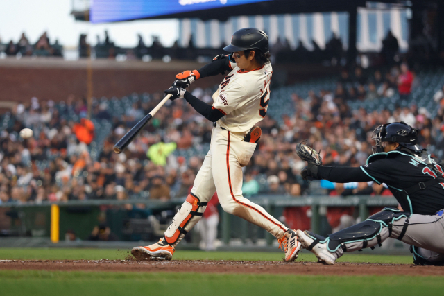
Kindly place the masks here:
POLYGON ((381 146, 382 142, 396 142, 402 147, 420 153, 422 149, 416 145, 418 134, 419 130, 412 128, 403 121, 379 125, 372 134, 372 139, 376 141, 372 151, 373 153, 384 152, 384 148, 381 146))

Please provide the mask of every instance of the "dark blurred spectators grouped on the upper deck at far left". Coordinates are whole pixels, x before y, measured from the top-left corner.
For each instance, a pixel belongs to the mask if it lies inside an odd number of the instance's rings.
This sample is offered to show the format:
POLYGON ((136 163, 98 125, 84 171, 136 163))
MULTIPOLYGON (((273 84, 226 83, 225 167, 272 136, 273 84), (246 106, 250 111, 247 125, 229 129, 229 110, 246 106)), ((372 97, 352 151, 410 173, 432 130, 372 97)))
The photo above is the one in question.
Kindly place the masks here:
MULTIPOLYGON (((1 42, 0 42, 1 45, 1 42)), ((19 41, 16 43, 14 40, 10 40, 8 44, 4 47, 4 52, 6 55, 13 55, 13 56, 62 56, 62 45, 58 43, 58 40, 54 43, 51 43, 49 41, 49 37, 46 33, 46 31, 40 35, 37 42, 34 44, 31 43, 28 40, 28 37, 26 37, 25 33, 22 33, 22 36, 20 36, 19 41)))

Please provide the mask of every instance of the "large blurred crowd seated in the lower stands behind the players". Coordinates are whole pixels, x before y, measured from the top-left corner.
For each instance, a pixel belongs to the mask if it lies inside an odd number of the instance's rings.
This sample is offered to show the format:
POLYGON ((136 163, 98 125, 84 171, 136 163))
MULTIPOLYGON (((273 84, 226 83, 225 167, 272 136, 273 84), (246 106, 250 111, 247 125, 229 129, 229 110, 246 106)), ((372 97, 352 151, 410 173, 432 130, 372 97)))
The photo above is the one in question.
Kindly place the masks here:
MULTIPOLYGON (((402 64, 365 75, 359 68, 354 73, 344 70, 336 89, 312 89, 307 97, 291 94, 291 115, 273 118, 267 114, 259 123, 262 137, 244 168, 244 195, 297 198, 313 194, 300 177, 305 162, 294 153, 296 143, 305 139, 321 150, 323 164, 334 166, 365 164, 371 154, 371 133, 377 125, 393 121, 419 128, 418 143, 423 148, 444 147, 444 86, 434 94, 436 110, 418 108, 414 103, 397 105, 393 111, 350 109, 350 102, 380 97, 396 96, 397 103, 402 103, 415 87, 420 87, 420 81, 402 64)), ((211 89, 195 88, 192 92, 212 103, 211 89)), ((0 202, 169 200, 186 196, 210 145, 212 123, 185 100, 171 101, 161 108, 125 153, 117 155, 112 149, 162 96, 136 96, 119 115, 114 113, 112 100, 94 100, 91 121, 86 119, 85 98, 69 96, 63 103, 32 98, 16 105, 12 112, 3 114, 3 126, 5 117, 8 125, 0 134, 0 202), (110 126, 103 143, 96 138, 104 130, 95 123, 110 126), (33 138, 19 137, 25 127, 33 129, 33 138)), ((272 89, 268 108, 282 108, 282 99, 273 97, 272 89)), ((323 193, 380 195, 383 191, 382 186, 363 183, 352 190, 336 188, 323 193)), ((336 217, 332 227, 339 227, 343 214, 332 214, 336 217)))

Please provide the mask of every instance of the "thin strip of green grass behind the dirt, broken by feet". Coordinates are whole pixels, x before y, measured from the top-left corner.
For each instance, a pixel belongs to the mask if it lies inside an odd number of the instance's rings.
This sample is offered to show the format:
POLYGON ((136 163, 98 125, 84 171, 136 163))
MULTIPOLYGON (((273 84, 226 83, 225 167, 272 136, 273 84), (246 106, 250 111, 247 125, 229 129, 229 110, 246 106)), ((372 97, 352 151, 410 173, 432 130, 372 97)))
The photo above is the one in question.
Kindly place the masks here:
MULTIPOLYGON (((0 248, 0 260, 100 260, 126 259, 128 250, 110 249, 65 249, 65 248, 0 248)), ((174 260, 261 260, 280 261, 282 252, 203 252, 177 251, 174 260)), ((316 257, 304 251, 300 253, 298 261, 316 261, 316 257)), ((338 262, 371 262, 371 263, 398 263, 411 264, 411 256, 387 256, 372 254, 345 254, 338 262)))

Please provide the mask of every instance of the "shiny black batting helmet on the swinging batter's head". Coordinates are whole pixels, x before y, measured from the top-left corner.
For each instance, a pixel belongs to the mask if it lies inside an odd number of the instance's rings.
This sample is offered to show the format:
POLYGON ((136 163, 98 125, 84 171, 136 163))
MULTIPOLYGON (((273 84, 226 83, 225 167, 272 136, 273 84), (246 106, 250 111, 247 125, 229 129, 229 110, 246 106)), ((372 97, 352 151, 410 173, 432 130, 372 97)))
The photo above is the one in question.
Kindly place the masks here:
POLYGON ((259 49, 262 53, 268 53, 268 36, 258 28, 243 28, 234 32, 231 44, 223 48, 224 51, 246 51, 248 49, 259 49))

